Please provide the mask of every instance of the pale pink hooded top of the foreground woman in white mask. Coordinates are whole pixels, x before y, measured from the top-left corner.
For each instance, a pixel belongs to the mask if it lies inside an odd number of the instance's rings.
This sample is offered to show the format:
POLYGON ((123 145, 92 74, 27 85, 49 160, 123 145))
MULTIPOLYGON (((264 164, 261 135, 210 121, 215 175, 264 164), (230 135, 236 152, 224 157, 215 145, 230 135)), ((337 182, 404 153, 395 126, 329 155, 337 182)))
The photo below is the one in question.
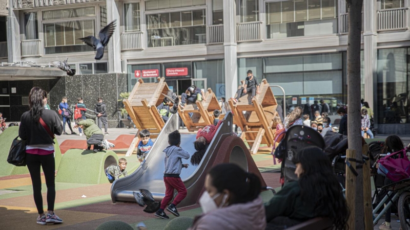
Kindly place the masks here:
POLYGON ((262 198, 237 203, 197 216, 189 230, 265 229, 266 215, 262 198))

